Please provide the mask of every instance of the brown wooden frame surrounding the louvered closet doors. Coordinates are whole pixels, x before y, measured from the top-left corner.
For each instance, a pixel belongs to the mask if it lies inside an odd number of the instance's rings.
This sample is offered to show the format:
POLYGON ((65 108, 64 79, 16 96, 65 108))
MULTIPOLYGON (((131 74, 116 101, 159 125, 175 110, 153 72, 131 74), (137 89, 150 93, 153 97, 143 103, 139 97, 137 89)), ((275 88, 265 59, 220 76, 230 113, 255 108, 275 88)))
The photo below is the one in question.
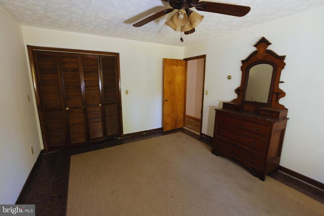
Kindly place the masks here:
MULTIPOLYGON (((41 95, 39 92, 39 87, 38 87, 38 82, 37 82, 38 75, 36 75, 35 59, 34 59, 34 55, 33 55, 34 51, 115 56, 116 60, 117 60, 117 91, 118 91, 118 108, 117 109, 118 109, 118 115, 119 115, 118 116, 118 118, 119 118, 119 132, 120 132, 120 138, 123 138, 124 133, 123 133, 123 115, 121 112, 121 85, 120 85, 119 53, 77 50, 77 49, 64 49, 64 48, 51 48, 51 47, 38 47, 38 46, 30 46, 30 45, 27 45, 27 51, 28 51, 29 64, 30 64, 30 70, 31 70, 32 84, 33 84, 33 89, 34 89, 34 93, 35 93, 36 106, 37 106, 37 111, 38 111, 38 119, 39 119, 39 124, 41 127, 41 133, 42 133, 42 139, 43 139, 43 145, 44 145, 45 152, 50 152, 53 149, 50 149, 50 146, 48 146, 48 143, 47 143, 45 119, 44 119, 44 115, 43 115, 43 108, 42 108, 42 104, 41 104, 41 95)), ((102 84, 101 84, 101 87, 102 87, 102 84)), ((83 94, 85 94, 84 86, 82 86, 82 88, 83 88, 83 94)))

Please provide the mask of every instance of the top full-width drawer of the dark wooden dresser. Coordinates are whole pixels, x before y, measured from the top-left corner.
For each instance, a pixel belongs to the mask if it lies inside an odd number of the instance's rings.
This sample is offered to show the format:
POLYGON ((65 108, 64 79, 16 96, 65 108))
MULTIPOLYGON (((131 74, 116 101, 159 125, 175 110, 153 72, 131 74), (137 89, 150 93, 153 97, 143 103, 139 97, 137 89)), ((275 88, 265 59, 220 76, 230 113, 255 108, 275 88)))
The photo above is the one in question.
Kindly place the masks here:
POLYGON ((261 124, 259 122, 247 121, 241 118, 235 118, 228 115, 218 114, 217 122, 232 125, 246 131, 250 131, 262 136, 267 136, 268 124, 261 124))

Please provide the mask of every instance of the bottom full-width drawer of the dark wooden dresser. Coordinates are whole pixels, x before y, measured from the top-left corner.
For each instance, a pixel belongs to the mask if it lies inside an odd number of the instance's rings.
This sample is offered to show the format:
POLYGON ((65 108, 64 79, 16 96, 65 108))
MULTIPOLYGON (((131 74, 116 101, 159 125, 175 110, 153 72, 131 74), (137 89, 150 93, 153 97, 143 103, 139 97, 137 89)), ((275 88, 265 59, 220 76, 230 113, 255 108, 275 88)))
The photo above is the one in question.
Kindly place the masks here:
POLYGON ((256 166, 254 165, 253 167, 258 167, 258 168, 261 167, 262 168, 262 164, 263 164, 262 157, 258 156, 257 154, 246 151, 242 148, 239 148, 235 144, 228 143, 221 139, 216 139, 215 145, 216 145, 216 148, 224 149, 224 150, 230 152, 231 154, 235 155, 235 159, 237 159, 237 160, 239 158, 242 158, 242 159, 249 161, 256 165, 256 166))

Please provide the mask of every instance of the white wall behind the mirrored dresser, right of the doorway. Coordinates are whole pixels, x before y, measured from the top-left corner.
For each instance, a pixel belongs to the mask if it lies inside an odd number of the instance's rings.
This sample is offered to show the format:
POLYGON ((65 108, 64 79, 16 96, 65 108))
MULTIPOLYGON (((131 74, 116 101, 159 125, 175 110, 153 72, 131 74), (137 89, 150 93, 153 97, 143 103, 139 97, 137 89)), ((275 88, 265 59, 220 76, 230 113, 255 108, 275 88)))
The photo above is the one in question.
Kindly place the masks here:
POLYGON ((280 165, 324 183, 324 7, 185 48, 184 57, 207 54, 203 133, 213 135, 215 108, 236 98, 241 79, 240 60, 255 51, 265 36, 268 49, 287 55, 280 84, 287 96, 280 100, 288 109, 287 131, 280 165), (227 75, 232 75, 228 80, 227 75))

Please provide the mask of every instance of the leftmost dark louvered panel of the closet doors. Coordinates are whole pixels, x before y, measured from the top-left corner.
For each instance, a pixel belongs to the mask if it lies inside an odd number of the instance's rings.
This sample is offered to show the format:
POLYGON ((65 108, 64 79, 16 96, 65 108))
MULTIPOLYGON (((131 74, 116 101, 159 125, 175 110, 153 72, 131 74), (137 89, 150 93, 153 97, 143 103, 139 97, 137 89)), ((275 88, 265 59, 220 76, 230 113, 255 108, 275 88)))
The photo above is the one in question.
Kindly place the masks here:
POLYGON ((33 51, 39 96, 50 150, 67 145, 58 55, 33 51))

